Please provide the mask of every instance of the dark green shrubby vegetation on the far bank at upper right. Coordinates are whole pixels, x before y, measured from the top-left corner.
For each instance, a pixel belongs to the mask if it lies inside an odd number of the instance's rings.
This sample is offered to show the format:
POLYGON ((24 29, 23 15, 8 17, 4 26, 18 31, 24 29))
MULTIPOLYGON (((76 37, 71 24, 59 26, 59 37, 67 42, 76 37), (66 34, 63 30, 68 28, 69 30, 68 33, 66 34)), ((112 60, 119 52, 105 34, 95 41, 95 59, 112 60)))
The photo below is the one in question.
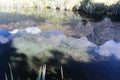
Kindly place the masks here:
POLYGON ((105 3, 94 3, 92 0, 84 0, 78 11, 83 11, 90 15, 120 15, 120 1, 112 5, 105 3))

